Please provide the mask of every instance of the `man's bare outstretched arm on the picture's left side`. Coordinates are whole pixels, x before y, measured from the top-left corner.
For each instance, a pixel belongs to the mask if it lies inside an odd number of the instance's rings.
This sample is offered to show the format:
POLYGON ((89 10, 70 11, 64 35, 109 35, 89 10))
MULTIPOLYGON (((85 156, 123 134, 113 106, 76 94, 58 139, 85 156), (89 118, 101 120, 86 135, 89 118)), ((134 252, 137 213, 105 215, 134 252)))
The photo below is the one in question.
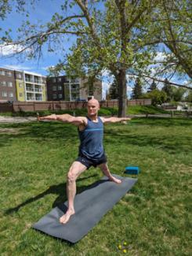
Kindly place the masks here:
POLYGON ((85 124, 85 121, 86 121, 85 117, 73 117, 73 116, 69 115, 68 113, 65 113, 63 115, 56 115, 55 113, 53 113, 52 115, 45 116, 45 117, 39 117, 39 115, 38 115, 37 120, 38 121, 43 121, 43 120, 61 121, 63 123, 69 123, 69 124, 74 124, 74 125, 85 124))

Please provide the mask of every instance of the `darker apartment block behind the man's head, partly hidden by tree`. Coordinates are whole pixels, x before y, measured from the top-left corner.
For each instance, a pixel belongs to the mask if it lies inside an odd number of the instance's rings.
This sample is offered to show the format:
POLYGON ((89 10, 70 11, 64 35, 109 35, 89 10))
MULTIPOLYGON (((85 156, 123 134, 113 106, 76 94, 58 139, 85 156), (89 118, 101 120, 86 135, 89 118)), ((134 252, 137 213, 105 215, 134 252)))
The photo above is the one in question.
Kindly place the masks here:
POLYGON ((102 82, 100 80, 96 80, 90 86, 87 79, 50 76, 47 77, 46 84, 49 101, 87 100, 90 95, 99 101, 102 100, 102 82))

